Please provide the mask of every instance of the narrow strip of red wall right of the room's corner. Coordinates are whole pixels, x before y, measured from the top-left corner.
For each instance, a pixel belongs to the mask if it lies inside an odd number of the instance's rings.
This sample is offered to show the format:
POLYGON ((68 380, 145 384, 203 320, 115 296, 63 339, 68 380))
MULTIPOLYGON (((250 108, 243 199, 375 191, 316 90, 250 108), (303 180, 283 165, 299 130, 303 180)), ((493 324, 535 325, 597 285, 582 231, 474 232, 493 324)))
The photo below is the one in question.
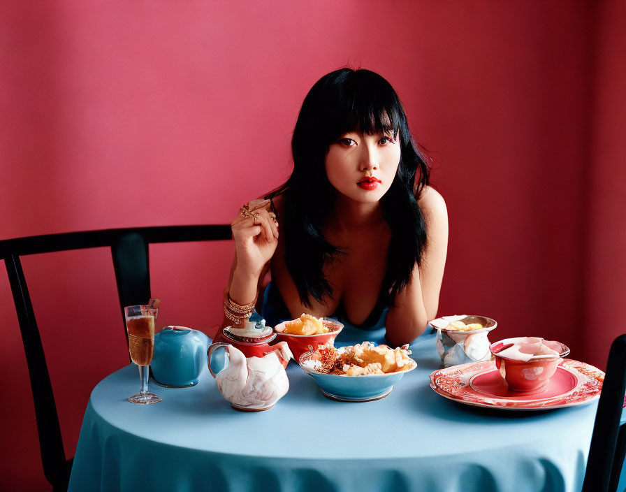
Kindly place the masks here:
POLYGON ((585 354, 599 363, 611 340, 626 333, 620 316, 626 305, 626 3, 599 2, 597 19, 581 333, 585 354))

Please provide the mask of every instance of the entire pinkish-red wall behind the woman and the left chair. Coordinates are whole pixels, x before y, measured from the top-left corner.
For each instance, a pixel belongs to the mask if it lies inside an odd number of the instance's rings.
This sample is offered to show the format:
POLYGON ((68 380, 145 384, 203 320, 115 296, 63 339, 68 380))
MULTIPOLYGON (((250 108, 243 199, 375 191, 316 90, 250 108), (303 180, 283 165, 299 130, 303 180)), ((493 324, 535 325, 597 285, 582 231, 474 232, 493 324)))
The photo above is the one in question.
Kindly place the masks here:
MULTIPOLYGON (((0 239, 231 222, 289 175, 315 80, 363 66, 398 90, 448 204, 439 312, 603 367, 624 331, 625 14, 617 0, 6 1, 0 239)), ((153 247, 159 324, 212 333, 231 254, 153 247)), ((23 264, 73 456, 89 392, 128 362, 110 254, 23 264)), ((2 271, 0 476, 48 490, 2 271)))

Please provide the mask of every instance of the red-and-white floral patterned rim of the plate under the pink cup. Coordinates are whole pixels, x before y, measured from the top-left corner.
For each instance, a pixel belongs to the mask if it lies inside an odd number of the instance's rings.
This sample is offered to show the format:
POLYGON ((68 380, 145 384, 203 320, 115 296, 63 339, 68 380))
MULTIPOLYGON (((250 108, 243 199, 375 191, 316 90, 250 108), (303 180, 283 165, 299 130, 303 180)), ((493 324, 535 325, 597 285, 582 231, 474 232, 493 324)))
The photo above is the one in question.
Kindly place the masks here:
POLYGON ((436 370, 430 375, 430 387, 444 398, 458 403, 502 410, 548 410, 585 405, 599 398, 604 372, 574 359, 563 359, 559 369, 569 372, 575 378, 574 384, 567 384, 562 387, 562 391, 548 397, 542 397, 541 393, 524 395, 509 393, 506 396, 494 396, 488 392, 476 391, 475 385, 472 384, 476 377, 497 371, 493 361, 467 363, 436 370))

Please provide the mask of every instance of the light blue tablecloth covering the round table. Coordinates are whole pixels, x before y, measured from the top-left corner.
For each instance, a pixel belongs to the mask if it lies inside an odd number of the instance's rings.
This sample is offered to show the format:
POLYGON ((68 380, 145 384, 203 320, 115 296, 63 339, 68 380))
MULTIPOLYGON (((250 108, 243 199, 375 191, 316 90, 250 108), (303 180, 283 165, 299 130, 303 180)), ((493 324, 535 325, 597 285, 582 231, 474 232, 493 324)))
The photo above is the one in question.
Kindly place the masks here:
POLYGON ((136 366, 94 389, 70 491, 578 491, 597 403, 540 412, 467 407, 429 387, 435 337, 382 400, 325 398, 296 364, 265 412, 237 412, 204 372, 197 386, 151 384, 163 402, 133 405, 136 366))

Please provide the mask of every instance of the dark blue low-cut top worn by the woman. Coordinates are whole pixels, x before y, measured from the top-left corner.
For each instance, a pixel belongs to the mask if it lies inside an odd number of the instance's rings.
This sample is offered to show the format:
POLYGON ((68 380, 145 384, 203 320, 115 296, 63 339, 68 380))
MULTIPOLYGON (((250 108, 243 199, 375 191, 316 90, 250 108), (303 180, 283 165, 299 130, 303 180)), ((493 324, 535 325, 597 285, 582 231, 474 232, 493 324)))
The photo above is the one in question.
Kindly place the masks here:
MULTIPOLYGON (((330 318, 336 319, 344 325, 341 333, 341 340, 337 340, 335 345, 337 347, 343 347, 344 345, 361 343, 365 340, 375 342, 377 344, 386 343, 385 321, 387 319, 387 312, 388 307, 382 303, 381 297, 379 297, 374 309, 365 322, 360 325, 354 325, 350 323, 343 305, 340 304, 339 307, 337 307, 337 311, 330 316, 330 318)), ((263 307, 261 309, 261 313, 266 324, 272 327, 282 321, 289 321, 289 319, 292 319, 291 314, 289 314, 289 309, 287 309, 279 290, 272 282, 268 284, 268 287, 266 287, 263 292, 263 307)))

